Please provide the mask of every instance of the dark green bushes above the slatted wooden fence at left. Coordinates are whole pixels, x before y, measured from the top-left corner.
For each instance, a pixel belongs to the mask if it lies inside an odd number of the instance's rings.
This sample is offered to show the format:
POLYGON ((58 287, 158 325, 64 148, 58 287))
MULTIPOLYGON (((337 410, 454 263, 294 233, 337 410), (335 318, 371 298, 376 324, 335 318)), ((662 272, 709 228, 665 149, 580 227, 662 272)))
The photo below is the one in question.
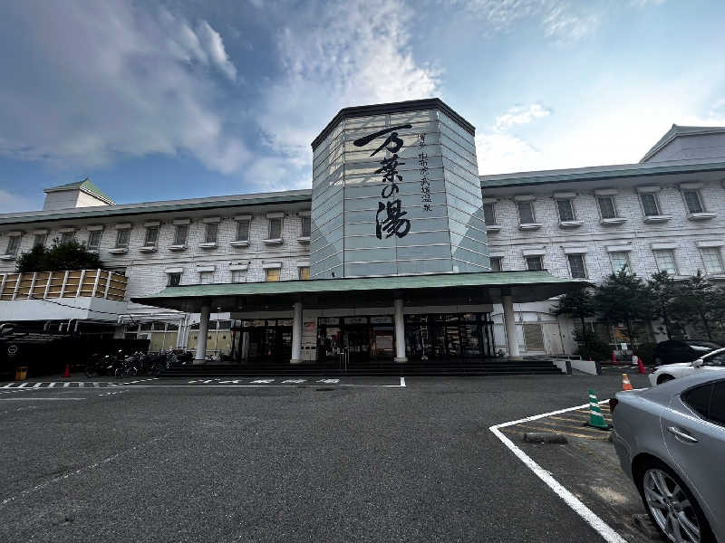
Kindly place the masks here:
POLYGON ((72 239, 61 242, 53 239, 50 249, 35 246, 31 251, 24 252, 17 259, 17 271, 65 271, 94 270, 103 268, 101 258, 95 252, 86 249, 85 243, 72 239))

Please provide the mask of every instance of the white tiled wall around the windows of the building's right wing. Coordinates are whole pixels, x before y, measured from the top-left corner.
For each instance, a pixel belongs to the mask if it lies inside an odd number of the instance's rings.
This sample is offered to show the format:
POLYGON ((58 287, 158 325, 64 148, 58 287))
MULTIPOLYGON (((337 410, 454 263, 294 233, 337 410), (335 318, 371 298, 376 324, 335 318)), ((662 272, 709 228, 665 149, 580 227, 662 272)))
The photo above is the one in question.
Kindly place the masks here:
POLYGON ((575 228, 559 226, 556 202, 552 195, 536 195, 536 222, 542 224, 536 231, 518 229, 517 207, 510 195, 498 196, 496 189, 484 189, 484 195, 487 198, 498 198, 496 222, 501 225, 501 230, 488 234, 488 244, 493 254, 505 254, 502 261, 505 271, 525 270, 523 252, 543 248, 546 270, 557 276, 569 277, 564 248, 585 246, 589 278, 602 281, 612 273, 606 247, 629 244, 632 246, 629 258, 633 272, 649 277, 658 271, 652 243, 666 242, 676 244, 674 256, 679 274, 691 275, 698 269, 704 271, 697 242, 725 241, 725 188, 719 183, 708 183, 701 189, 701 200, 706 211, 718 214, 702 222, 687 219, 687 209, 678 186, 663 186, 658 193, 661 213, 672 215, 670 221, 662 224, 643 222, 639 197, 632 187, 621 187, 619 194, 614 195, 617 214, 627 218, 620 225, 599 224, 599 209, 591 190, 580 192, 573 200, 577 220, 584 221, 584 224, 575 228))

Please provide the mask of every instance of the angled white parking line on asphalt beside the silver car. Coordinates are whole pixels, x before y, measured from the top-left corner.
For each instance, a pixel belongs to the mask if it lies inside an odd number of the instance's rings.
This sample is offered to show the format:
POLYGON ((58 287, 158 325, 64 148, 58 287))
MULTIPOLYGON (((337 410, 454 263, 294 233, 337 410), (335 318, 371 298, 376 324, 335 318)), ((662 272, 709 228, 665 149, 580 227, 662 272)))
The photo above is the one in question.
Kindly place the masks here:
MULTIPOLYGON (((608 402, 609 400, 603 400, 599 402, 600 404, 604 404, 608 402)), ((501 440, 501 443, 505 444, 508 449, 510 449, 511 452, 513 452, 518 460, 521 462, 524 462, 524 464, 527 466, 529 470, 534 472, 536 476, 541 479, 541 481, 546 482, 548 487, 556 492, 556 495, 565 501, 566 505, 568 505, 570 508, 575 510, 576 514, 579 515, 582 519, 585 520, 587 524, 589 524, 596 532, 604 538, 605 541, 608 543, 627 543, 626 539, 622 538, 617 532, 612 529, 611 526, 609 526, 604 520, 600 519, 596 513, 594 513, 593 510, 590 510, 588 507, 585 506, 584 503, 582 503, 581 500, 579 500, 574 494, 572 494, 570 491, 567 491, 564 486, 559 483, 559 481, 556 481, 554 477, 551 476, 551 473, 546 472, 544 468, 542 468, 540 465, 538 465, 536 462, 534 462, 530 456, 527 455, 526 452, 523 452, 521 449, 519 449, 510 439, 508 439, 503 433, 500 432, 499 428, 505 428, 507 426, 513 426, 514 424, 521 424, 521 423, 527 423, 529 421, 535 421, 536 419, 544 418, 546 416, 552 415, 552 414, 561 414, 566 413, 568 411, 575 411, 577 409, 584 409, 585 407, 588 407, 589 404, 585 405, 576 405, 575 407, 569 407, 567 409, 559 409, 558 411, 551 411, 549 413, 543 413, 543 414, 535 414, 533 416, 527 416, 526 418, 518 419, 517 421, 510 421, 508 423, 501 423, 501 424, 495 424, 488 428, 496 437, 498 437, 499 440, 501 440)))

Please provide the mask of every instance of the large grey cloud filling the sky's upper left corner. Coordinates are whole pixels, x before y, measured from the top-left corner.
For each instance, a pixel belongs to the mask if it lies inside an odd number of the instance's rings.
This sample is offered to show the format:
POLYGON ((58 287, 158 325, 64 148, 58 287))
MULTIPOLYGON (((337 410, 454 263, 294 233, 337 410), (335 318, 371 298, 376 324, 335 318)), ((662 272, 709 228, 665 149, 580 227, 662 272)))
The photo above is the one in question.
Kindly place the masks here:
POLYGON ((214 77, 236 68, 208 23, 121 0, 28 0, 5 6, 0 35, 14 50, 0 57, 14 74, 0 86, 0 155, 96 167, 182 152, 223 173, 247 162, 214 77))

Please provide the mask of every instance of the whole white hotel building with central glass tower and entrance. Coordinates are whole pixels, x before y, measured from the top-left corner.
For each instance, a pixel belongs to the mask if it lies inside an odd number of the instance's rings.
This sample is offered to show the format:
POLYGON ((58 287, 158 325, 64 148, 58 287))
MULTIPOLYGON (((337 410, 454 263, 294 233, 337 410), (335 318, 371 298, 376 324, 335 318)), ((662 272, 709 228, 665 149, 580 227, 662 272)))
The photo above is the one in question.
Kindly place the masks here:
POLYGON ((546 301, 575 281, 623 263, 725 279, 725 129, 673 126, 640 164, 478 179, 473 127, 417 100, 342 110, 313 147, 312 190, 116 205, 88 180, 46 189, 42 211, 0 215, 0 322, 198 357, 517 357, 575 351, 546 301), (394 197, 407 223, 385 211, 394 197), (20 253, 69 236, 118 275, 14 273, 20 253))

